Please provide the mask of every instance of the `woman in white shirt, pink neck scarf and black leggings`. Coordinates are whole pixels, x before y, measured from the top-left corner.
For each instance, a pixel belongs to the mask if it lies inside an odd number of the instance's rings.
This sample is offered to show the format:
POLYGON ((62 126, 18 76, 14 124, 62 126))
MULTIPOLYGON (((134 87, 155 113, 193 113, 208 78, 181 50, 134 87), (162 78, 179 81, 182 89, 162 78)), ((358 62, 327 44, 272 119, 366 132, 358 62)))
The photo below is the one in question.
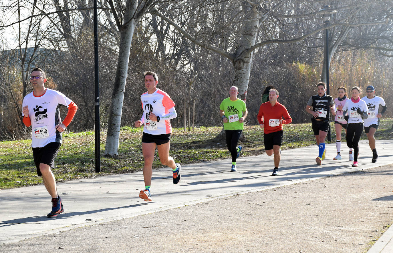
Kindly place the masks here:
POLYGON ((354 160, 352 167, 358 166, 359 140, 363 132, 363 119, 367 119, 367 105, 360 99, 360 88, 351 89, 352 98, 345 102, 343 115, 348 122, 347 125, 347 146, 353 148, 354 160))

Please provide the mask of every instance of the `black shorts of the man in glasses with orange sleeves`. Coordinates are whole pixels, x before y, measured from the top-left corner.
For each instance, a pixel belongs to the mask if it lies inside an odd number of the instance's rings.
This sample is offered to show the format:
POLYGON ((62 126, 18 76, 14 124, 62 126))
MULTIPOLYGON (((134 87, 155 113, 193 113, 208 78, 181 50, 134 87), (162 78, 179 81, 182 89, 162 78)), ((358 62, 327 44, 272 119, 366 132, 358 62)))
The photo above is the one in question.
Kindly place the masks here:
POLYGON ((37 175, 42 176, 40 163, 48 164, 52 169, 55 168, 55 158, 59 152, 61 143, 51 142, 42 148, 33 148, 33 157, 37 175))

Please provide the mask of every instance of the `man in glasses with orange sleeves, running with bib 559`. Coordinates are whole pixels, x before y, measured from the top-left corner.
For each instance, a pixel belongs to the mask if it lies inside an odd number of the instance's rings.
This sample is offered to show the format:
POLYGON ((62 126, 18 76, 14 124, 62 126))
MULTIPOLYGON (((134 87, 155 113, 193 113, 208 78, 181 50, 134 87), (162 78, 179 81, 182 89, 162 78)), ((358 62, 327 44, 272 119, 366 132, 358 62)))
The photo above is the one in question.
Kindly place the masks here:
POLYGON ((64 208, 51 168, 55 168, 62 132, 72 121, 78 107, 61 92, 46 88, 46 81, 46 74, 42 69, 35 68, 31 71, 33 92, 23 98, 23 123, 26 127, 31 126, 31 147, 37 174, 42 176, 46 190, 52 197, 52 210, 48 217, 57 217, 64 212, 64 208), (68 107, 63 122, 60 119, 61 105, 68 107))

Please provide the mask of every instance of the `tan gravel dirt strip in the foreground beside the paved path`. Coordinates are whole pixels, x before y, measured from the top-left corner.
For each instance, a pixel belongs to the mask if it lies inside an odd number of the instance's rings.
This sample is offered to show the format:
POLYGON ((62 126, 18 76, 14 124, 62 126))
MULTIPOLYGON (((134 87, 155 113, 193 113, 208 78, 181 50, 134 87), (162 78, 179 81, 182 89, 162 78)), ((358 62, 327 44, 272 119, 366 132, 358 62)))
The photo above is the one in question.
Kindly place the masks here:
POLYGON ((392 221, 390 164, 5 244, 0 252, 364 253, 392 221))

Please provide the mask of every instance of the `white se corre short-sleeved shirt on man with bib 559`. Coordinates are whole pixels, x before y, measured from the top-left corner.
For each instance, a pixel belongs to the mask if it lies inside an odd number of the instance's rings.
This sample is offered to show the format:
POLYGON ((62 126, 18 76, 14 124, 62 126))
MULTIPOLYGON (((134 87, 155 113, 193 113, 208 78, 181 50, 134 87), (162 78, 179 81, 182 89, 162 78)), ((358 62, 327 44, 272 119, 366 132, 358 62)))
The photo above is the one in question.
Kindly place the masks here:
MULTIPOLYGON (((31 147, 42 148, 48 143, 62 143, 62 134, 56 131, 56 125, 61 124, 60 105, 68 107, 72 100, 57 90, 46 88, 39 97, 33 92, 23 98, 22 107, 29 108, 31 121, 31 147)), ((22 113, 23 114, 23 113, 22 113)))

